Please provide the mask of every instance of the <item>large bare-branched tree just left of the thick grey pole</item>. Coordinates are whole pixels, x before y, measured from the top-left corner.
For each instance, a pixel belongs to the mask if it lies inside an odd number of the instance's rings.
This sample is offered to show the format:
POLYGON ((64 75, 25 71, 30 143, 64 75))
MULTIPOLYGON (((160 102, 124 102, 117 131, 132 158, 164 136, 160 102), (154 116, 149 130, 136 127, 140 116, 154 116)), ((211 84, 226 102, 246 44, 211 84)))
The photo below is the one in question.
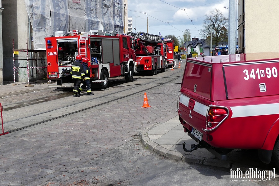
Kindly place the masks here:
POLYGON ((203 21, 203 29, 200 34, 203 37, 210 36, 212 28, 212 43, 217 46, 219 42, 228 41, 228 18, 225 17, 219 9, 210 11, 203 21))

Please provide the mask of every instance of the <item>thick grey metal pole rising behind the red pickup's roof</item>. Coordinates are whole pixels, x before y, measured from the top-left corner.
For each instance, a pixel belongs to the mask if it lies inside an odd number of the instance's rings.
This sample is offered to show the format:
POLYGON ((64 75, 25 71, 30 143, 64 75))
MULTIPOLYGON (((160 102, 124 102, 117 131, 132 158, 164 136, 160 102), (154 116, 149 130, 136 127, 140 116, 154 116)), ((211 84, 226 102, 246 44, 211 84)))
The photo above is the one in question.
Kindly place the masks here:
POLYGON ((235 54, 235 0, 229 0, 228 54, 235 54))

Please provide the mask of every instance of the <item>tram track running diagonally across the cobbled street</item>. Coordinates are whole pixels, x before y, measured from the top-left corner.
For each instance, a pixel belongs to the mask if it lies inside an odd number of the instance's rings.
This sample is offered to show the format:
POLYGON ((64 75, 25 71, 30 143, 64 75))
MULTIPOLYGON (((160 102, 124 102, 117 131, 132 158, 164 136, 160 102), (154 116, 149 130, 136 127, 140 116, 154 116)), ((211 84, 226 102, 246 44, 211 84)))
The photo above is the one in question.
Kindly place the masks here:
MULTIPOLYGON (((120 99, 129 97, 129 96, 133 96, 140 92, 148 91, 150 89, 156 88, 157 86, 162 86, 164 84, 168 84, 170 82, 177 80, 177 78, 180 76, 173 77, 173 75, 178 74, 178 73, 183 73, 183 69, 181 69, 181 70, 179 69, 175 73, 171 73, 170 77, 138 78, 138 80, 143 80, 143 79, 155 79, 155 80, 152 80, 148 83, 124 85, 122 87, 127 87, 124 90, 122 89, 120 91, 113 91, 109 94, 102 94, 102 95, 100 95, 98 97, 94 97, 94 98, 89 98, 86 96, 86 100, 82 100, 82 101, 78 100, 78 102, 75 102, 72 104, 68 103, 68 104, 60 106, 58 108, 49 109, 47 111, 39 112, 39 113, 30 115, 27 117, 19 117, 19 118, 13 119, 13 120, 5 123, 6 128, 8 128, 7 132, 11 133, 11 132, 19 131, 19 130, 22 130, 22 129, 25 129, 25 128, 28 128, 31 126, 36 126, 36 125, 39 125, 39 124, 42 124, 45 122, 49 122, 49 121, 61 118, 61 117, 69 116, 71 114, 79 113, 79 112, 82 112, 82 111, 85 111, 88 109, 98 107, 100 105, 104 105, 104 104, 107 104, 107 103, 110 103, 110 102, 113 102, 116 100, 120 100, 120 99), (165 78, 168 78, 168 79, 165 79, 165 78), (142 86, 148 86, 148 87, 141 88, 142 86), (128 91, 128 92, 125 92, 125 91, 128 91), (115 96, 117 98, 113 98, 115 96), (89 99, 87 99, 87 98, 89 98, 89 99), (105 101, 98 103, 98 104, 94 103, 94 102, 100 101, 100 100, 105 100, 105 101), (83 105, 85 105, 85 107, 83 105), (88 105, 91 105, 91 106, 88 106, 88 105), (73 111, 72 108, 74 108, 74 107, 78 108, 78 109, 73 111), (58 115, 56 116, 55 114, 57 114, 57 113, 58 113, 58 115), (41 121, 37 121, 38 118, 41 118, 41 119, 39 119, 41 121), (16 124, 14 124, 14 123, 16 123, 16 124)), ((146 76, 143 76, 143 77, 146 77, 146 76)), ((115 87, 115 86, 116 85, 114 85, 113 87, 115 87)), ((80 99, 80 98, 78 98, 78 99, 80 99)))

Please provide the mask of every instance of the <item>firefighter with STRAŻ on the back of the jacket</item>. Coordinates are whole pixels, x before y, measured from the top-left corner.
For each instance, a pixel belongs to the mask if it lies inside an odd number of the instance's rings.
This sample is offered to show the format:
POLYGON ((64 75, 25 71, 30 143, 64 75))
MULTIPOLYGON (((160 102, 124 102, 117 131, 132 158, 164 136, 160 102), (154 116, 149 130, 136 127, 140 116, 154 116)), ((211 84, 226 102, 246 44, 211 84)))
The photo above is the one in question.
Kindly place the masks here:
POLYGON ((82 56, 77 55, 76 61, 72 64, 72 67, 71 67, 71 74, 72 74, 72 78, 73 78, 73 82, 74 82, 74 88, 73 88, 74 97, 80 97, 80 95, 78 95, 78 90, 79 90, 82 78, 85 77, 83 65, 81 63, 82 63, 82 56))

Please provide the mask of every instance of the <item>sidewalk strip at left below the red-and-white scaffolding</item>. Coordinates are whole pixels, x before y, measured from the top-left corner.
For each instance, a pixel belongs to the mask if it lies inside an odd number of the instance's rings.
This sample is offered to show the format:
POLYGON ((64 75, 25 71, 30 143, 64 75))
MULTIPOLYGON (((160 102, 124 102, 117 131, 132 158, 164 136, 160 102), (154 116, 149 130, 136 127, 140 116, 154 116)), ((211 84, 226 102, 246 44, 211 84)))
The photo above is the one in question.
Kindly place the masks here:
POLYGON ((3 81, 3 85, 0 85, 0 98, 10 96, 10 95, 18 95, 28 92, 40 91, 49 89, 47 88, 47 80, 38 80, 35 82, 11 82, 11 81, 3 81))

